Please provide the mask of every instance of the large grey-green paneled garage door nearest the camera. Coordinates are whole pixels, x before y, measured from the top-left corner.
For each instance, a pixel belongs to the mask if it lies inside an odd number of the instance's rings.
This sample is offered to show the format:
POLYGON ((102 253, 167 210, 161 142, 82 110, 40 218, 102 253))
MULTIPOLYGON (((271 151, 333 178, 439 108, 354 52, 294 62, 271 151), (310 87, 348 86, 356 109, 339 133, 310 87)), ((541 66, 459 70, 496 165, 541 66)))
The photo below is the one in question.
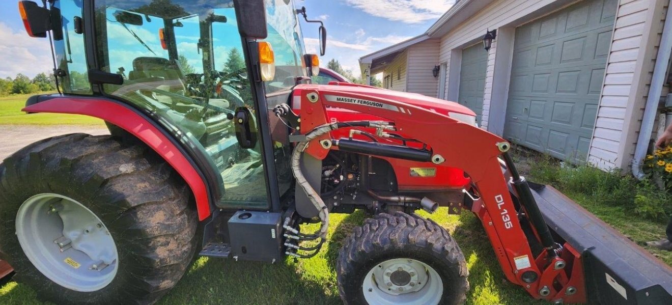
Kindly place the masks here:
POLYGON ((516 29, 505 138, 585 161, 617 0, 587 0, 516 29))

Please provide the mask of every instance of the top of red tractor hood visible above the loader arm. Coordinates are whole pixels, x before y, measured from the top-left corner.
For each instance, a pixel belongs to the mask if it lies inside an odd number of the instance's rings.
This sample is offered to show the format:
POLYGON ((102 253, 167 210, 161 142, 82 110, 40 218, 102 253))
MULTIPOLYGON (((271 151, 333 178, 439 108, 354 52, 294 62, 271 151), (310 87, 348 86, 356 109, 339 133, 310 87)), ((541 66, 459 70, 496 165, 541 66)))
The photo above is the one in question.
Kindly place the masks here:
POLYGON ((372 97, 380 97, 383 99, 392 99, 394 101, 401 101, 409 105, 415 105, 427 110, 434 110, 440 114, 448 114, 454 112, 458 114, 467 114, 469 116, 476 116, 476 114, 467 107, 460 105, 454 101, 446 101, 444 99, 437 99, 428 97, 418 93, 408 93, 401 91, 393 91, 388 89, 381 89, 366 85, 358 85, 353 83, 337 83, 331 82, 329 85, 298 85, 296 89, 328 89, 331 91, 341 91, 344 93, 355 93, 361 95, 368 95, 372 97))

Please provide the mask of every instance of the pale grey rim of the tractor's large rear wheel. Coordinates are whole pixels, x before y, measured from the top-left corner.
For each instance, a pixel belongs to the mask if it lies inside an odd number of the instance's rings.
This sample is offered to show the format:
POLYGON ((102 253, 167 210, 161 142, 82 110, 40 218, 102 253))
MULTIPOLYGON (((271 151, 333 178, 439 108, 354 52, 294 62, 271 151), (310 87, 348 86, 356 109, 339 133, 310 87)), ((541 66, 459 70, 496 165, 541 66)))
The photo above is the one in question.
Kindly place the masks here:
POLYGON ((91 210, 55 193, 28 198, 16 215, 16 235, 30 262, 56 284, 100 290, 118 269, 110 231, 91 210))

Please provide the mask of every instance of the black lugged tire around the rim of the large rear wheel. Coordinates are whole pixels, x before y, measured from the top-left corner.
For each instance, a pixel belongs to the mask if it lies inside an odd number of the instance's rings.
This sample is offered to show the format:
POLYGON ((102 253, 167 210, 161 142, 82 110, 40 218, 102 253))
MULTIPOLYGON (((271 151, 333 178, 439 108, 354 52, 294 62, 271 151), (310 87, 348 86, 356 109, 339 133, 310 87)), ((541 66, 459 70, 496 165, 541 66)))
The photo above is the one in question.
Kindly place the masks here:
POLYGON ((86 134, 48 138, 0 164, 0 252, 14 267, 15 280, 57 304, 151 304, 175 286, 194 255, 198 220, 191 198, 182 179, 144 145, 86 134), (103 288, 83 292, 56 284, 24 252, 15 234, 17 212, 45 193, 81 204, 114 238, 118 265, 103 288))

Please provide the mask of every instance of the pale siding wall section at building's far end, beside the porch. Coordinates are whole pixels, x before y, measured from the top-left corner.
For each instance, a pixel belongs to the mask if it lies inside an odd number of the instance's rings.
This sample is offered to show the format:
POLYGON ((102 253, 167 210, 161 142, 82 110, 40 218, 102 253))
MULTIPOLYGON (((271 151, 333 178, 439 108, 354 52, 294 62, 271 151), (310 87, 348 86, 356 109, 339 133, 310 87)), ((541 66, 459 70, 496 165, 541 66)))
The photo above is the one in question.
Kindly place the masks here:
POLYGON ((439 64, 439 40, 425 40, 408 48, 407 91, 437 97, 438 77, 432 70, 439 64))

